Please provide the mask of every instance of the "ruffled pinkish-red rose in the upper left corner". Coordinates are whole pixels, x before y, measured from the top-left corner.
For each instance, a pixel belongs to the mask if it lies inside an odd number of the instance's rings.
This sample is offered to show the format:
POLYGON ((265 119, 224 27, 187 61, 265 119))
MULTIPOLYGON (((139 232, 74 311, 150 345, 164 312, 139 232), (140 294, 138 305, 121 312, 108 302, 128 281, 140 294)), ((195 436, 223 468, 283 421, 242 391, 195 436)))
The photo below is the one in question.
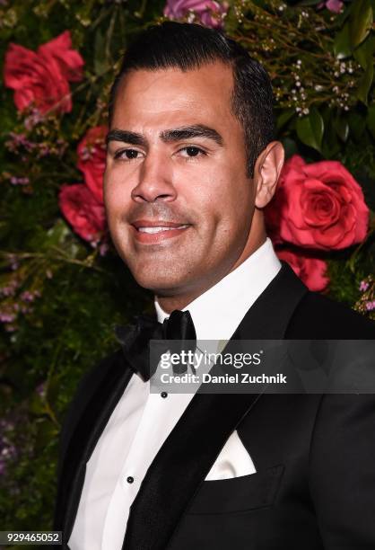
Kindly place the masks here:
POLYGON ((70 32, 39 46, 37 52, 11 43, 5 54, 4 84, 14 90, 19 111, 34 105, 42 113, 72 111, 69 82, 83 77, 83 58, 71 49, 70 32))

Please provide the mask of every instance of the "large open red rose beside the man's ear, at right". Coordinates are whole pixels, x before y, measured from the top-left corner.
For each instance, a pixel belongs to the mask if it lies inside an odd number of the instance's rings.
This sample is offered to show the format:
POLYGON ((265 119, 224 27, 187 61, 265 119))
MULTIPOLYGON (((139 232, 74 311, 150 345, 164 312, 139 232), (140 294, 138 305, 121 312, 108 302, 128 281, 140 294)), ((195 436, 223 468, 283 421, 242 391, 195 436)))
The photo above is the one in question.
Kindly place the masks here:
POLYGON ((285 163, 265 214, 274 243, 323 250, 361 243, 369 221, 361 186, 343 164, 306 164, 298 155, 285 163))

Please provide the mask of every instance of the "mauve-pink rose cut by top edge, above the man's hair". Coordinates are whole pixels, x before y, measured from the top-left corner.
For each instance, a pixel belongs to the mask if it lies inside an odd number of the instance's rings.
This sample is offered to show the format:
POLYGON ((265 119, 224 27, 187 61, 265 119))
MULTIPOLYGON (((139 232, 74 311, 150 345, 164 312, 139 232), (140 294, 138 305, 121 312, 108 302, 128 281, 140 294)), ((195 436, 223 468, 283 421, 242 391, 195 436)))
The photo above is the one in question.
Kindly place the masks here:
POLYGON ((226 2, 214 0, 167 0, 164 15, 170 19, 182 19, 193 12, 206 27, 221 28, 228 7, 226 2))

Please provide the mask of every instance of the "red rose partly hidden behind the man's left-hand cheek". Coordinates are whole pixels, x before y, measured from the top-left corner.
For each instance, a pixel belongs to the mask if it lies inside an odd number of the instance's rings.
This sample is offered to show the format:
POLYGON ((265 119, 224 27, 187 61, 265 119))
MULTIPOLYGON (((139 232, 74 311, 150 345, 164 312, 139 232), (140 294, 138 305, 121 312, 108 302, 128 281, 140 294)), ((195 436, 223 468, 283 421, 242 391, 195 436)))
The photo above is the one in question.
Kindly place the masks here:
POLYGON ((84 181, 96 199, 103 202, 103 173, 106 164, 106 126, 89 129, 81 140, 78 153, 78 168, 84 174, 84 181))

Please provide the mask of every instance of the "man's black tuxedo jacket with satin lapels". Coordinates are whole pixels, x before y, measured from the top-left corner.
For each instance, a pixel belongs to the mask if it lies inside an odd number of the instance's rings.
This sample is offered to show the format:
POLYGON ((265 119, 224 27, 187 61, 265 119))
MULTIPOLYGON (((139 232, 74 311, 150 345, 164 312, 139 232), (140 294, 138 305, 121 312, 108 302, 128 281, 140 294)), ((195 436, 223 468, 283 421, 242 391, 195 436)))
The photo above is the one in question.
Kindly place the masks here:
MULTIPOLYGON (((373 339, 374 326, 283 262, 232 339, 373 339)), ((86 462, 130 377, 118 350, 65 417, 54 522, 65 549, 86 462)), ((145 475, 123 550, 374 549, 374 519, 374 395, 196 394, 145 475), (233 430, 257 473, 205 481, 233 430)))

